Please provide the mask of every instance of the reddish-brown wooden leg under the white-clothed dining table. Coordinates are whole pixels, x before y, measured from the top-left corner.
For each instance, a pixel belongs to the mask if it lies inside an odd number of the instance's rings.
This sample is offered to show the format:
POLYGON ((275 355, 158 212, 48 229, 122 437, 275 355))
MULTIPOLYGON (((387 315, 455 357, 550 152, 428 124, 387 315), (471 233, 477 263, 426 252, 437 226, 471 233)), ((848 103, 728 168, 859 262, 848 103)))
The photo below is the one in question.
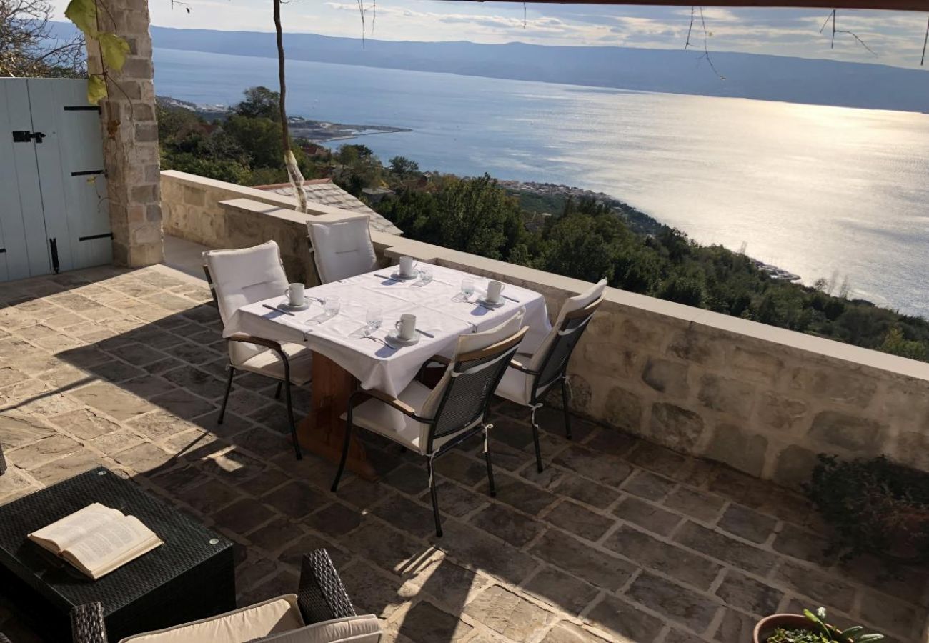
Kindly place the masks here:
MULTIPOLYGON (((334 361, 313 351, 312 406, 297 426, 300 446, 338 464, 345 443, 346 425, 340 415, 348 408, 348 398, 358 382, 334 361)), ((356 429, 358 430, 358 429, 356 429)), ((352 436, 346 467, 366 480, 377 479, 374 467, 364 453, 364 445, 352 436)))

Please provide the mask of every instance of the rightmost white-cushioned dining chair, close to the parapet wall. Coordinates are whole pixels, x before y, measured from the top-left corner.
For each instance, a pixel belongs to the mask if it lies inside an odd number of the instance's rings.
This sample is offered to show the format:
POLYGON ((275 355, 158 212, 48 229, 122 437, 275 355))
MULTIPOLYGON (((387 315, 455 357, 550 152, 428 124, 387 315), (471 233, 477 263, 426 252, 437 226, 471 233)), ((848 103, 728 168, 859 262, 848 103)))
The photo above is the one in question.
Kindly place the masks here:
POLYGON ((534 353, 517 353, 510 363, 500 385, 497 395, 528 406, 531 410, 532 440, 535 442, 535 464, 542 471, 542 449, 539 446, 539 425, 535 421, 535 412, 542 407, 546 392, 556 384, 561 384, 561 401, 565 412, 565 434, 571 439, 571 420, 568 411, 568 361, 574 347, 581 339, 587 323, 600 304, 607 280, 601 280, 582 293, 570 297, 561 310, 551 332, 545 336, 542 344, 534 353))

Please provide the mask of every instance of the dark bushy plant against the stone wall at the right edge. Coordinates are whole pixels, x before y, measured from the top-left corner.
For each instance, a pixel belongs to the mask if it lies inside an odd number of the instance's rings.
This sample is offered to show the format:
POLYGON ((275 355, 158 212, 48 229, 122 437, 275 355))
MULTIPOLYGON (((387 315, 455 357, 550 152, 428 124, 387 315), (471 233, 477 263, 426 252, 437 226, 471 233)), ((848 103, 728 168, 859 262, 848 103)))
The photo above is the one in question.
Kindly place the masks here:
POLYGON ((883 456, 820 454, 804 491, 831 526, 831 553, 929 558, 929 474, 883 456))

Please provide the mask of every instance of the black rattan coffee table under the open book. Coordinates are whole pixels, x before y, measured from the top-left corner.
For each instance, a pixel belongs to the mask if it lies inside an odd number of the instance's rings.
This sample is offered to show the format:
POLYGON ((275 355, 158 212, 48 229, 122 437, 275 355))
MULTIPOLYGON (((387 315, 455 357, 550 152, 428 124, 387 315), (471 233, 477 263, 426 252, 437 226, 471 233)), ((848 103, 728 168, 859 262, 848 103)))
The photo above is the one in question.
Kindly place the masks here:
POLYGON ((232 543, 98 467, 0 506, 0 594, 49 641, 70 641, 70 612, 103 606, 111 641, 235 608, 232 543), (26 534, 98 502, 136 516, 164 545, 93 581, 26 534))

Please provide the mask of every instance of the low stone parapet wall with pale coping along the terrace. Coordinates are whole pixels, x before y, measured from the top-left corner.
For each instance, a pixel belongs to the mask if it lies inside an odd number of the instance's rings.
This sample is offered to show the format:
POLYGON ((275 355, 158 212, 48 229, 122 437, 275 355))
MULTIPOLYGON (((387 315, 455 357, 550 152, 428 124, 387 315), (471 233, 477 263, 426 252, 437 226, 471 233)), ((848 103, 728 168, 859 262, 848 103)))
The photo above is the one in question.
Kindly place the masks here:
MULTIPOLYGON (((289 274, 300 278, 301 266, 312 273, 307 216, 276 203, 290 200, 178 175, 162 178, 169 234, 210 247, 274 239, 289 274), (236 196, 249 201, 219 204, 236 196)), ((531 288, 553 317, 567 297, 590 287, 382 232, 372 239, 385 263, 409 255, 531 288)), ((929 470, 924 362, 608 288, 569 373, 578 413, 788 487, 808 478, 817 453, 885 453, 929 470)))

